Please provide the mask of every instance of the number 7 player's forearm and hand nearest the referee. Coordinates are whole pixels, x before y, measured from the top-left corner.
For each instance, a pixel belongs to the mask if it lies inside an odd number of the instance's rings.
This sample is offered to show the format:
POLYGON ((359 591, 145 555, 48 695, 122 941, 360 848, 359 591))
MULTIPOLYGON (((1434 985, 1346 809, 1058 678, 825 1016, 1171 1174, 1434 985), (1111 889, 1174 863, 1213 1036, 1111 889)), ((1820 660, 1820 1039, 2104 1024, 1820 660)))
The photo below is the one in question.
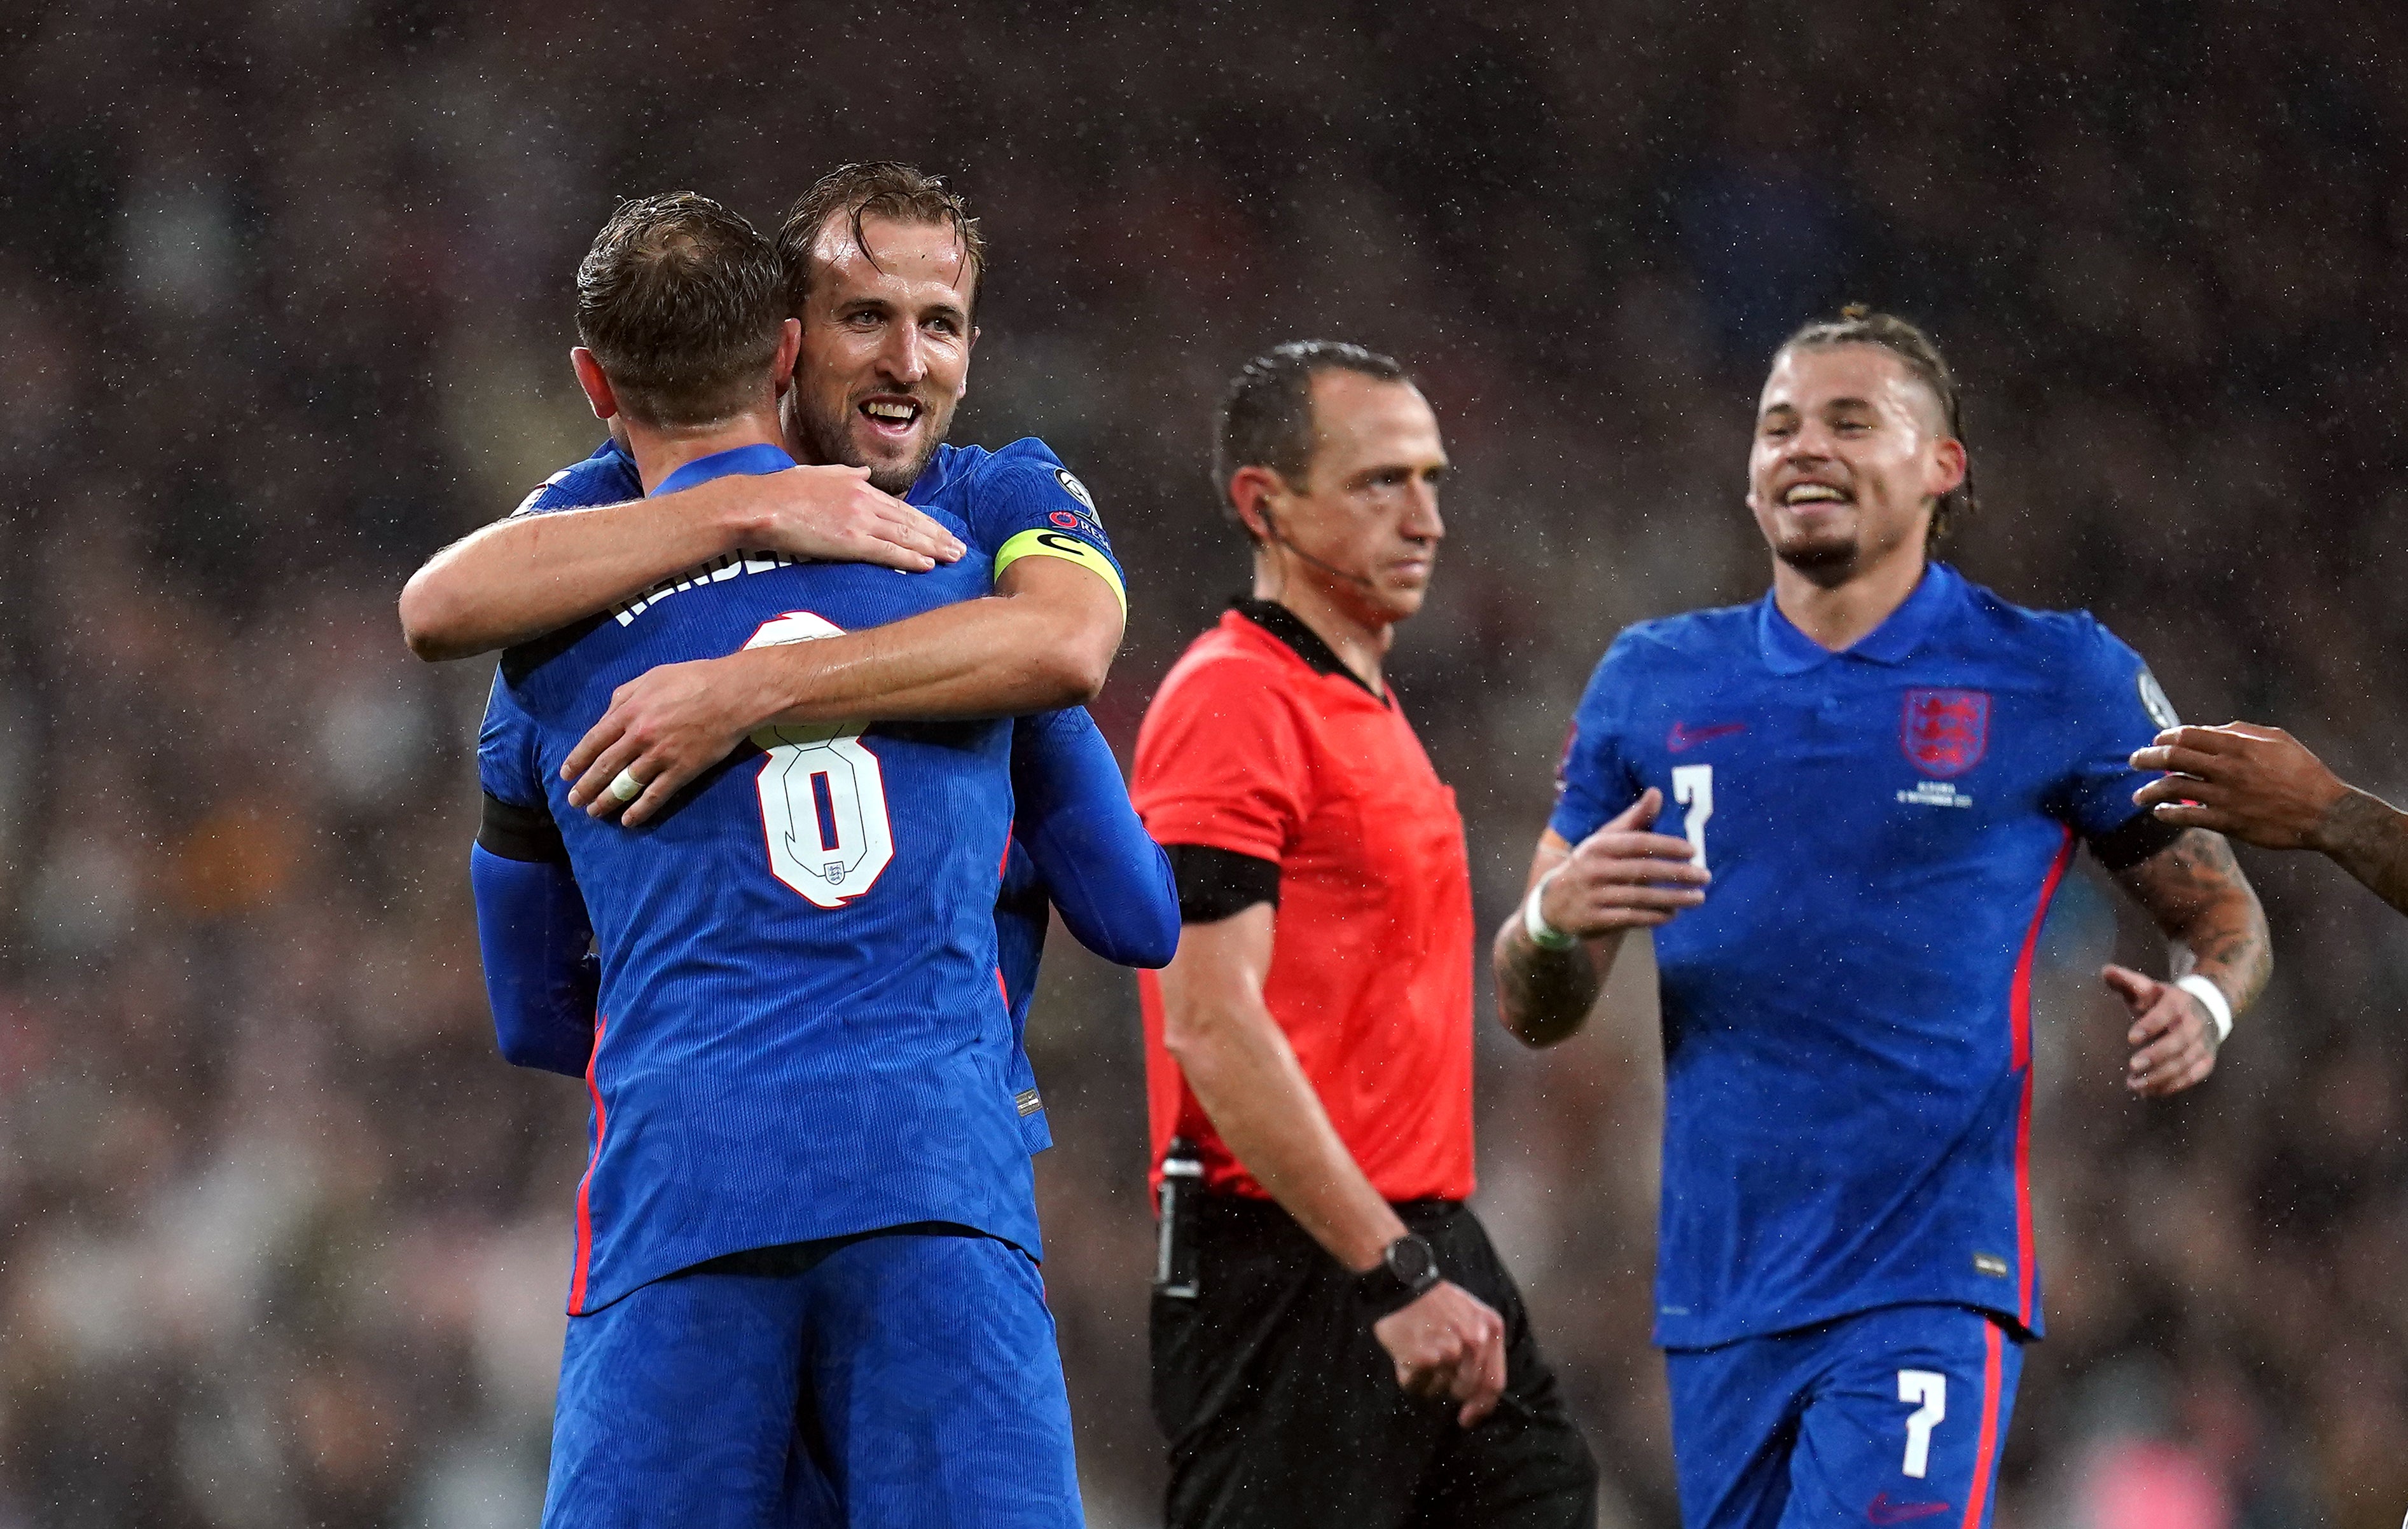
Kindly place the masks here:
POLYGON ((1712 876, 1686 838, 1652 833, 1664 792, 1647 792, 1580 845, 1539 836, 1522 905, 1498 927, 1491 961, 1498 1019, 1524 1045, 1556 1045, 1597 1004, 1630 929, 1652 929, 1705 901, 1712 876))

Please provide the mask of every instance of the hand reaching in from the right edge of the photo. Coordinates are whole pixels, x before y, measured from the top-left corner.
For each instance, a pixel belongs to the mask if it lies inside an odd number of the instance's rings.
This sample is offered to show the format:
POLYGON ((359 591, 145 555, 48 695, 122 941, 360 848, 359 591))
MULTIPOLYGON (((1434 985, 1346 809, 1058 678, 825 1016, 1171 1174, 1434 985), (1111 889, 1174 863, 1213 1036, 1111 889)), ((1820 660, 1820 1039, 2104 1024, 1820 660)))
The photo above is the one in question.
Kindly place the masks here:
POLYGON ((2321 850, 2326 816, 2350 795, 2307 744, 2256 722, 2167 727, 2131 756, 2131 768, 2174 771, 2131 795, 2160 823, 2211 828, 2261 850, 2321 850))

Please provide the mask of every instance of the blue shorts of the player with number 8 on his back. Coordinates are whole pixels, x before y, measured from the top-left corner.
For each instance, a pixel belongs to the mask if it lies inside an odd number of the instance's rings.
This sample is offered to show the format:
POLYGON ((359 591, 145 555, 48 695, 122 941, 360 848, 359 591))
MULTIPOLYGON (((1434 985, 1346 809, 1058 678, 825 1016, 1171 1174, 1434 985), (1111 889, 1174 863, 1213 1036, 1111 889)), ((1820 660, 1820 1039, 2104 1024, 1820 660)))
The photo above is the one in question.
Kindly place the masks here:
POLYGON ((761 1247, 568 1320, 544 1529, 1076 1529, 1038 1267, 963 1228, 761 1247))

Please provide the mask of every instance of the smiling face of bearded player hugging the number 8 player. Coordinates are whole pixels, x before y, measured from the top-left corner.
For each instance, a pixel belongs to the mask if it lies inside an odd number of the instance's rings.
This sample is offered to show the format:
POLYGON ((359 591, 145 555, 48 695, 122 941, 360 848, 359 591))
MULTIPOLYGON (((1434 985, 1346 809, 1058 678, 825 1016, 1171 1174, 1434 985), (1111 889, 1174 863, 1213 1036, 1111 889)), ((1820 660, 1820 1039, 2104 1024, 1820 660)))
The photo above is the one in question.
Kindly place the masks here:
POLYGON ((975 274, 949 224, 831 217, 811 246, 787 433, 807 462, 903 494, 968 388, 975 274), (867 248, 864 248, 867 246, 867 248))

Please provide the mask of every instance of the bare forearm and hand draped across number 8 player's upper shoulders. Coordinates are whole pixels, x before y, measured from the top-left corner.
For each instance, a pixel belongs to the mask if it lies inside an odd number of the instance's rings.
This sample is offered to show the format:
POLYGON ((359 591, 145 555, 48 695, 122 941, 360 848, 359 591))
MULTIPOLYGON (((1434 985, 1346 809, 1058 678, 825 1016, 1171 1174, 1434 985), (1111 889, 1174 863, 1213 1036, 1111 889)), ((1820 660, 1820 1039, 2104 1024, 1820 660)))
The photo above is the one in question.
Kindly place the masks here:
POLYGON ((409 575, 402 636, 424 660, 491 653, 730 551, 922 571, 963 547, 872 489, 864 467, 730 474, 657 498, 496 520, 409 575))

